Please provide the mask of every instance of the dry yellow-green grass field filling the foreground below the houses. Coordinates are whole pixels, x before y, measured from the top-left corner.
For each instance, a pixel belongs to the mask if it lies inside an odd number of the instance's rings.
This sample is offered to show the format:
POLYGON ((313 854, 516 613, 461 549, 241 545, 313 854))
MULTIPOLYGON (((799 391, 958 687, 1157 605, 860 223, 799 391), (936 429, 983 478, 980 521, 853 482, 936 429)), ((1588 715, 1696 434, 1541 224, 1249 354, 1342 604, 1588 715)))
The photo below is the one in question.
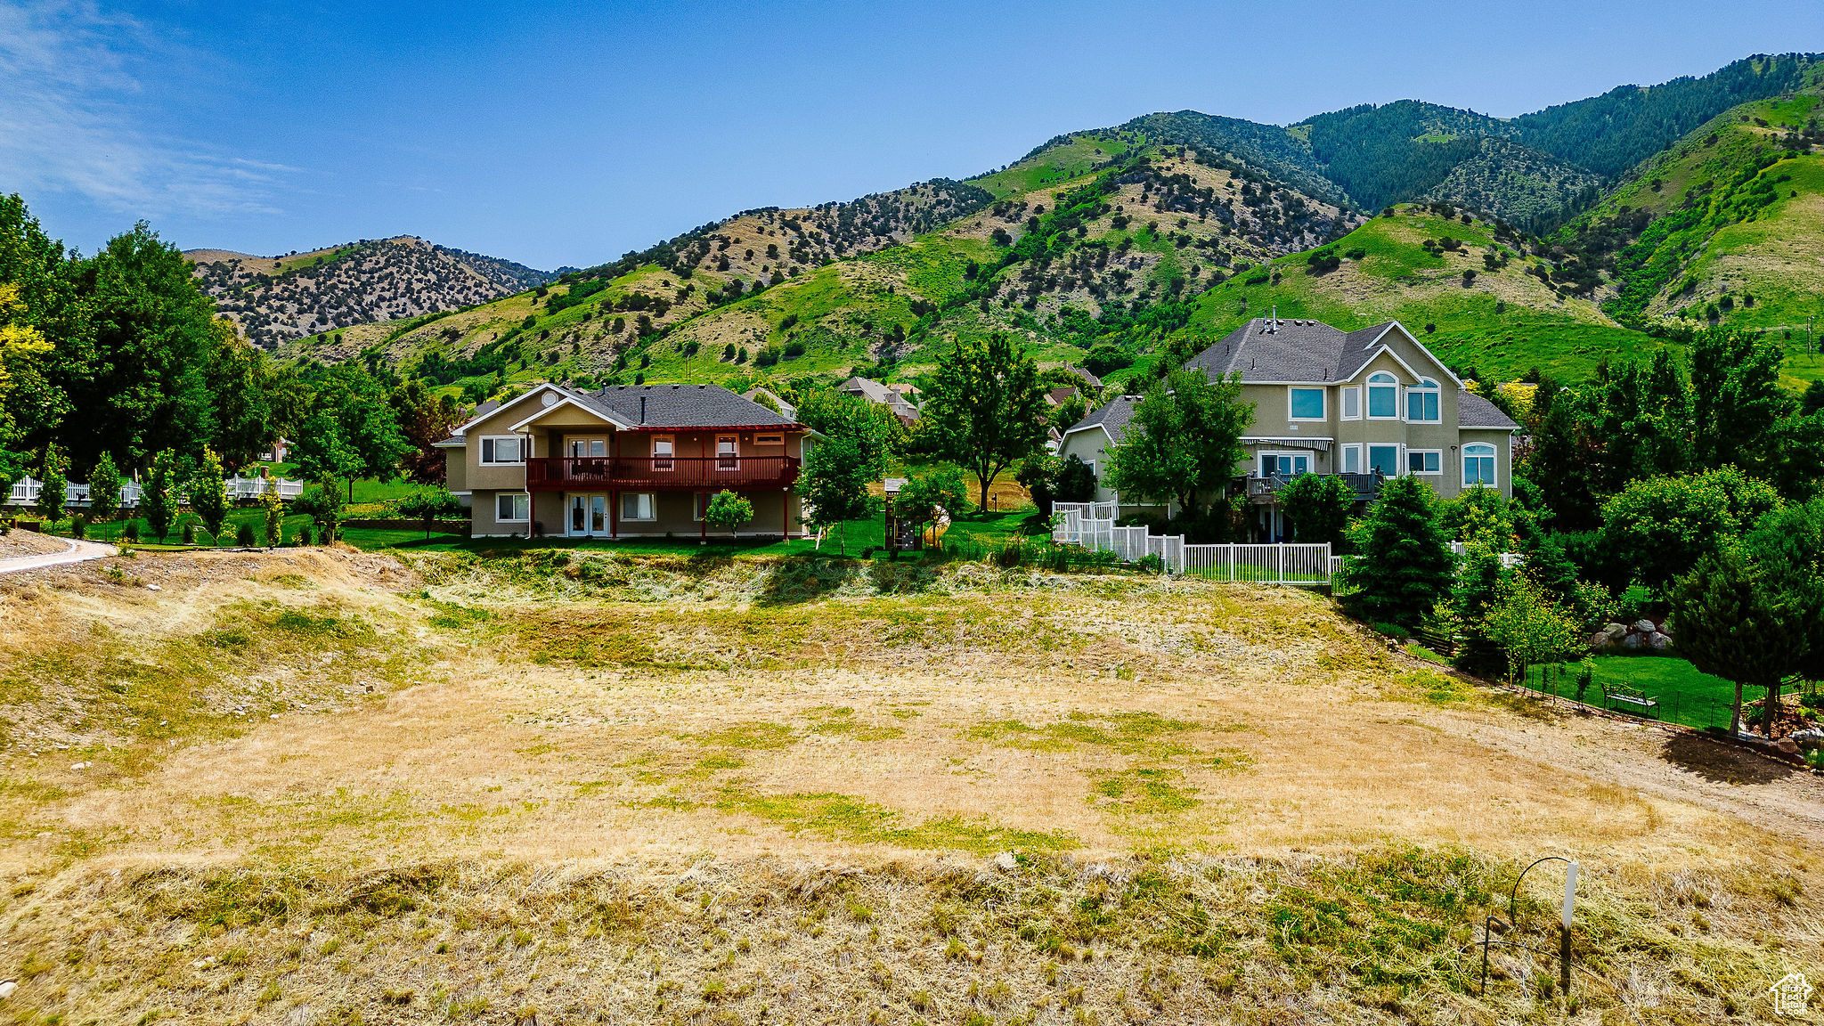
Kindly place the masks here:
POLYGON ((0 579, 0 1021, 1746 1022, 1820 979, 1815 778, 1321 595, 405 560, 0 579), (1545 854, 1572 993, 1508 947, 1483 995, 1545 854))

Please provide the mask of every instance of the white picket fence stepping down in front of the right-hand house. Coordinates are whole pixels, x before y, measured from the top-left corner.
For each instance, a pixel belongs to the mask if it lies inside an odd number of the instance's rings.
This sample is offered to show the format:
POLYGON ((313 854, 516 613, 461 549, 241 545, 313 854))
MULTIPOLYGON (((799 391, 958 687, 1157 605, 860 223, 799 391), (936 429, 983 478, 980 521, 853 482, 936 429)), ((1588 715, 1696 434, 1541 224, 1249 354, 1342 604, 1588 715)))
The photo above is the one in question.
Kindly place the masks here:
POLYGON ((1114 524, 1114 502, 1056 502, 1052 540, 1111 551, 1122 562, 1156 555, 1171 573, 1189 573, 1213 581, 1251 581, 1257 584, 1330 584, 1342 568, 1342 557, 1330 546, 1302 544, 1226 544, 1193 546, 1184 535, 1153 535, 1145 528, 1114 524))

